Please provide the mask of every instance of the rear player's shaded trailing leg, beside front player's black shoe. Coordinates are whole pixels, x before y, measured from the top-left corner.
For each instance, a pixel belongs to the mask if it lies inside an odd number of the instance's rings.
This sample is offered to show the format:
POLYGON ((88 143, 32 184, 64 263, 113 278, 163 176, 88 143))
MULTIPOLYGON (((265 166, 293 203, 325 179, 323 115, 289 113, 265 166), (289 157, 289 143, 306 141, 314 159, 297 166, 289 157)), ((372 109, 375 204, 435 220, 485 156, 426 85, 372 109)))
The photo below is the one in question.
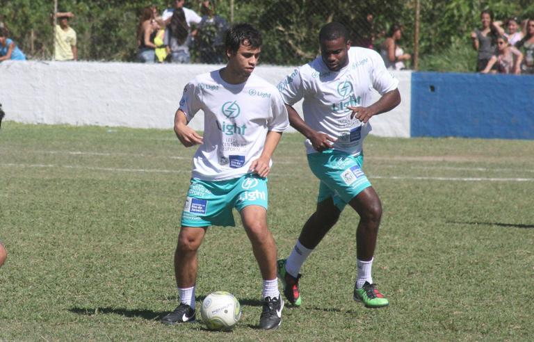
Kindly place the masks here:
MULTIPOLYGON (((322 189, 325 186, 321 183, 319 187, 319 194, 321 199, 322 193, 327 189, 322 189)), ((284 285, 284 295, 291 304, 299 307, 302 304, 300 291, 298 288, 298 280, 300 279, 300 268, 302 264, 312 254, 315 247, 323 240, 325 235, 339 219, 340 209, 334 204, 331 196, 326 197, 321 202, 318 202, 316 211, 308 218, 300 236, 291 250, 291 254, 287 259, 278 261, 278 277, 284 285)))

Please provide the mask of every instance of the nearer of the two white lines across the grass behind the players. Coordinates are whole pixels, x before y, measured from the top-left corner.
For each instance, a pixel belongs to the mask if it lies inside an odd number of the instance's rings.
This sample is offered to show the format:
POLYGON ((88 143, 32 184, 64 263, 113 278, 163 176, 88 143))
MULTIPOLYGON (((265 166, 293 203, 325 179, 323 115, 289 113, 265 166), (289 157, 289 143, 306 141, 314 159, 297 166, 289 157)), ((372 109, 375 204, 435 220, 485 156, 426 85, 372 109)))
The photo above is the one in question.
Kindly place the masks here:
MULTIPOLYGON (((93 171, 111 171, 111 172, 139 172, 139 173, 190 173, 191 170, 165 170, 165 169, 132 169, 132 168, 97 168, 94 166, 83 165, 55 165, 55 164, 15 164, 2 163, 1 167, 7 168, 66 168, 93 171)), ((271 173, 273 176, 294 177, 289 173, 271 173)), ((412 176, 371 176, 371 179, 407 179, 421 181, 534 181, 534 178, 483 178, 483 177, 412 177, 412 176)))

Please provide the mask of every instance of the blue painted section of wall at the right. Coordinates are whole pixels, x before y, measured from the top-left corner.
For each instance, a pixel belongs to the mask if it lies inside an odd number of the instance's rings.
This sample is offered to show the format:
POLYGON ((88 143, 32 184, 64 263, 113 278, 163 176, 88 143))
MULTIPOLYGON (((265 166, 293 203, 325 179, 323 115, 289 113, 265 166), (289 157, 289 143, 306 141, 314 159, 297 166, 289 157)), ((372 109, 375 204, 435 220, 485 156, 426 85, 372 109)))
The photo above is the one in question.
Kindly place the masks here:
POLYGON ((411 136, 534 139, 534 76, 412 73, 411 136))

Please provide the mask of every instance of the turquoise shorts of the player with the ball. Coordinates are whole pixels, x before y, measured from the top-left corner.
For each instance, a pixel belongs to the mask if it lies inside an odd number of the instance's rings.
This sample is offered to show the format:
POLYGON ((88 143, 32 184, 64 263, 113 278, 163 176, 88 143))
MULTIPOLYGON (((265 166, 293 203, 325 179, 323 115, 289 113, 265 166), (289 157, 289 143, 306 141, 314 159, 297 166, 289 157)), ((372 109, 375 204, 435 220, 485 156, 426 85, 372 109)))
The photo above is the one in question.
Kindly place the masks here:
POLYGON ((245 206, 257 205, 267 209, 267 179, 257 174, 227 181, 202 181, 191 179, 184 211, 182 227, 208 227, 236 225, 232 209, 239 212, 245 206))

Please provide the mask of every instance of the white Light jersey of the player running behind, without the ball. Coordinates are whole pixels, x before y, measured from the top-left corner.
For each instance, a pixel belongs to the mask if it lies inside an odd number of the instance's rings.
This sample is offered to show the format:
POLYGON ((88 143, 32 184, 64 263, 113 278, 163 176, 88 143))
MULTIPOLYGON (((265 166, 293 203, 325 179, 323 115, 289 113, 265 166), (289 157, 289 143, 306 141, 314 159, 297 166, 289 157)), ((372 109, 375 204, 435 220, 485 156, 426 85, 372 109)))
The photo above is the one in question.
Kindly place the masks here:
MULTIPOLYGON (((304 120, 315 131, 332 138, 334 149, 357 156, 362 153, 362 141, 371 131, 371 124, 351 119, 349 106, 370 106, 373 88, 380 95, 395 90, 398 80, 387 71, 380 55, 371 49, 351 47, 348 65, 332 72, 321 56, 298 67, 278 84, 286 104, 300 99, 304 120)), ((315 153, 312 142, 305 142, 307 153, 315 153)))

